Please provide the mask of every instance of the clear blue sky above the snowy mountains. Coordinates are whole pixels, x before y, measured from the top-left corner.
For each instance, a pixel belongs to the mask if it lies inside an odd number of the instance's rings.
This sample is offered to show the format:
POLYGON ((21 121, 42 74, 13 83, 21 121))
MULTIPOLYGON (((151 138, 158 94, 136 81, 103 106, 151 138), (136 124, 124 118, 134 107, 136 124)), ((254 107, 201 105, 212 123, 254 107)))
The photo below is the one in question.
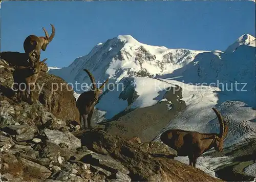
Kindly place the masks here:
POLYGON ((41 58, 68 66, 99 42, 130 34, 167 48, 225 50, 242 34, 255 36, 255 3, 245 1, 9 1, 1 4, 1 51, 24 52, 25 38, 56 36, 41 58))

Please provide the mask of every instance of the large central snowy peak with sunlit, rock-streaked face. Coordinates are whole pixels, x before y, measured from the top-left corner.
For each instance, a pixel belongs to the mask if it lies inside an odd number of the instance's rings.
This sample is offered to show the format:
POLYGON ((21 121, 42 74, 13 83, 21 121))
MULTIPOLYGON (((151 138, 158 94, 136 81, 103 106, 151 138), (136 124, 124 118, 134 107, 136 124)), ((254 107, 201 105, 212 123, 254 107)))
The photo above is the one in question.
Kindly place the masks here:
MULTIPOLYGON (((129 76, 153 78, 156 74, 172 73, 202 52, 147 45, 131 35, 123 35, 97 44, 88 55, 75 59, 68 67, 50 70, 49 73, 73 84, 76 81, 91 83, 83 71, 85 68, 101 82, 106 78, 118 82, 129 76)), ((82 93, 82 90, 75 91, 82 93)))

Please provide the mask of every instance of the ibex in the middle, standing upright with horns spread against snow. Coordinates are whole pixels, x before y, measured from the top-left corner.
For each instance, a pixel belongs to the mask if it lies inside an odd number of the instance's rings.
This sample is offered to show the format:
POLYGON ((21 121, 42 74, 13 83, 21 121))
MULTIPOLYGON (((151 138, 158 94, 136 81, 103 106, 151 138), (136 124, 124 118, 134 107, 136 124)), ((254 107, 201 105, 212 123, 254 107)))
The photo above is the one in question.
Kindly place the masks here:
POLYGON ((84 92, 79 96, 76 102, 76 107, 78 108, 80 114, 81 128, 86 129, 87 123, 88 128, 91 129, 91 119, 93 115, 94 106, 97 103, 100 94, 102 94, 102 89, 104 85, 109 81, 109 79, 106 79, 106 81, 99 88, 97 88, 95 79, 92 76, 92 74, 86 69, 84 69, 83 71, 85 71, 89 75, 92 82, 92 88, 91 90, 84 92))

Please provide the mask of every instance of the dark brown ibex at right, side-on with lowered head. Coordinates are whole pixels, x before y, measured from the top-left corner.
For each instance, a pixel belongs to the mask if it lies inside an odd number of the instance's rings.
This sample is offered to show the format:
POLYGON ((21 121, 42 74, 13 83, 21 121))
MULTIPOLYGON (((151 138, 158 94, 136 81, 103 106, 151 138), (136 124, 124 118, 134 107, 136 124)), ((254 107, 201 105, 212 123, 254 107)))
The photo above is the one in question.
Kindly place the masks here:
POLYGON ((220 112, 212 108, 220 123, 220 133, 199 133, 196 131, 184 131, 169 129, 161 134, 161 141, 175 149, 178 156, 188 156, 189 165, 196 167, 197 158, 212 147, 217 151, 223 150, 223 141, 227 135, 228 126, 222 119, 220 112))

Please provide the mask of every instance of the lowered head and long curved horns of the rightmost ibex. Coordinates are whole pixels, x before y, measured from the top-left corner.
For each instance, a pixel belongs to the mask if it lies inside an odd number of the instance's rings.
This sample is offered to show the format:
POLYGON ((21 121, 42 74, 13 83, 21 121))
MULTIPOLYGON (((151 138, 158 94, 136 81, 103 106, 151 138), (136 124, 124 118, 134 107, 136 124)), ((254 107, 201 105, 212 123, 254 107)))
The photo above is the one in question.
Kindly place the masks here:
POLYGON ((215 111, 217 118, 219 120, 219 123, 220 123, 220 133, 219 133, 219 135, 215 135, 214 148, 217 151, 222 151, 223 150, 223 142, 224 142, 224 139, 228 132, 228 126, 227 126, 226 120, 222 119, 220 112, 214 107, 212 108, 212 110, 215 111))

